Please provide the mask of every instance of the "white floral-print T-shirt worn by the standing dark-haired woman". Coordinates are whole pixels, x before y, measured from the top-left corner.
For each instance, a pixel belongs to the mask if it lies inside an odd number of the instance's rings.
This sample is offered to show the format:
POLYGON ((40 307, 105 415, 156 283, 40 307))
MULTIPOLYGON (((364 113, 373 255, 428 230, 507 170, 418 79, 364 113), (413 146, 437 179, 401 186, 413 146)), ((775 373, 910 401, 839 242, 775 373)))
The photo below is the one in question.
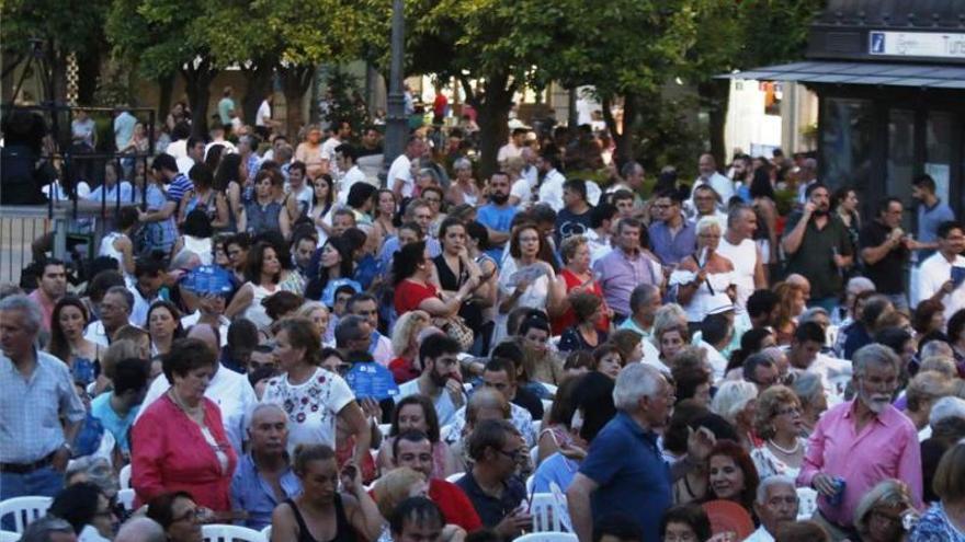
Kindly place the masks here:
POLYGON ((300 443, 336 448, 336 420, 339 413, 355 400, 349 384, 322 368, 305 383, 293 385, 287 374, 269 380, 262 403, 275 403, 288 414, 288 453, 300 443))

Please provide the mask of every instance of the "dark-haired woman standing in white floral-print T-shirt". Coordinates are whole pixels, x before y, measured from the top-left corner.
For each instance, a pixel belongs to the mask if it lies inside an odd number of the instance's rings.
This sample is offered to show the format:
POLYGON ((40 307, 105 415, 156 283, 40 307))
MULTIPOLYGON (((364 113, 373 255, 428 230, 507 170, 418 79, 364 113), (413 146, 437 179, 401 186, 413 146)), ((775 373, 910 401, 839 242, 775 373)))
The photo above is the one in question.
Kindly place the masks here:
POLYGON ((288 414, 288 453, 299 443, 336 447, 336 420, 355 437, 355 464, 368 454, 371 434, 349 384, 319 367, 318 332, 310 320, 286 319, 275 334, 275 357, 284 372, 269 381, 262 402, 276 403, 288 414))

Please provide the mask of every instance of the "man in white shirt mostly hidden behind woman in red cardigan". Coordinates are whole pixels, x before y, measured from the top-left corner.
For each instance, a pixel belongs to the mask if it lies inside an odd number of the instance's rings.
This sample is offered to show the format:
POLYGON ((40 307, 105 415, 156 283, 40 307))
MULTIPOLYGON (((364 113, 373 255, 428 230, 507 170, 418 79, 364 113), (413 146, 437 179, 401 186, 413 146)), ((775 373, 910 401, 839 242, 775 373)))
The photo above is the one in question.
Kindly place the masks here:
MULTIPOLYGON (((214 330, 208 324, 197 324, 188 333, 189 337, 200 338, 204 341, 209 348, 216 353, 218 350, 218 339, 214 330)), ((168 379, 160 374, 151 382, 147 390, 147 395, 140 404, 140 410, 134 422, 147 411, 147 407, 157 401, 171 388, 168 379)), ((245 453, 242 445, 245 440, 246 417, 248 413, 258 403, 258 396, 254 395, 254 389, 248 382, 245 374, 239 374, 231 369, 224 367, 220 362, 215 361, 214 373, 211 382, 204 391, 204 396, 214 401, 222 411, 222 422, 225 425, 225 433, 235 451, 241 455, 245 453)))

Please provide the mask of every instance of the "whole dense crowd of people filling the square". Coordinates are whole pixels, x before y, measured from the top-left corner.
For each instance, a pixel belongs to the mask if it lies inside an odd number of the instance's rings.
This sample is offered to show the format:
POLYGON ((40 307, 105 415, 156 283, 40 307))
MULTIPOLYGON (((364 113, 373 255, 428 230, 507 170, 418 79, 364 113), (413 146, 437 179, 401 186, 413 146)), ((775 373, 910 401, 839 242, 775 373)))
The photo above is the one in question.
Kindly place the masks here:
POLYGON ((545 494, 580 542, 965 540, 965 227, 928 175, 917 235, 804 155, 654 185, 583 129, 479 178, 420 128, 378 180, 377 130, 293 148, 225 100, 109 164, 83 277, 41 251, 0 292, 0 494, 53 497, 24 540, 495 542, 545 494))

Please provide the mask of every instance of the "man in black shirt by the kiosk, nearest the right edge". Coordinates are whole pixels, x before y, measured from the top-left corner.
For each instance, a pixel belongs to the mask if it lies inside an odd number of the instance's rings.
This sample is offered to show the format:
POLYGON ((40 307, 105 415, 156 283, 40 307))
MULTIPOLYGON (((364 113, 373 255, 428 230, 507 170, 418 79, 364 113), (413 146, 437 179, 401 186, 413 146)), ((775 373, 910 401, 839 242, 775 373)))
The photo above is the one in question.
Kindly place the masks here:
POLYGON ((885 198, 878 204, 878 216, 861 229, 861 260, 864 275, 875 284, 878 293, 885 295, 896 309, 908 309, 905 296, 905 264, 908 262, 912 241, 901 229, 905 211, 898 198, 885 198))

